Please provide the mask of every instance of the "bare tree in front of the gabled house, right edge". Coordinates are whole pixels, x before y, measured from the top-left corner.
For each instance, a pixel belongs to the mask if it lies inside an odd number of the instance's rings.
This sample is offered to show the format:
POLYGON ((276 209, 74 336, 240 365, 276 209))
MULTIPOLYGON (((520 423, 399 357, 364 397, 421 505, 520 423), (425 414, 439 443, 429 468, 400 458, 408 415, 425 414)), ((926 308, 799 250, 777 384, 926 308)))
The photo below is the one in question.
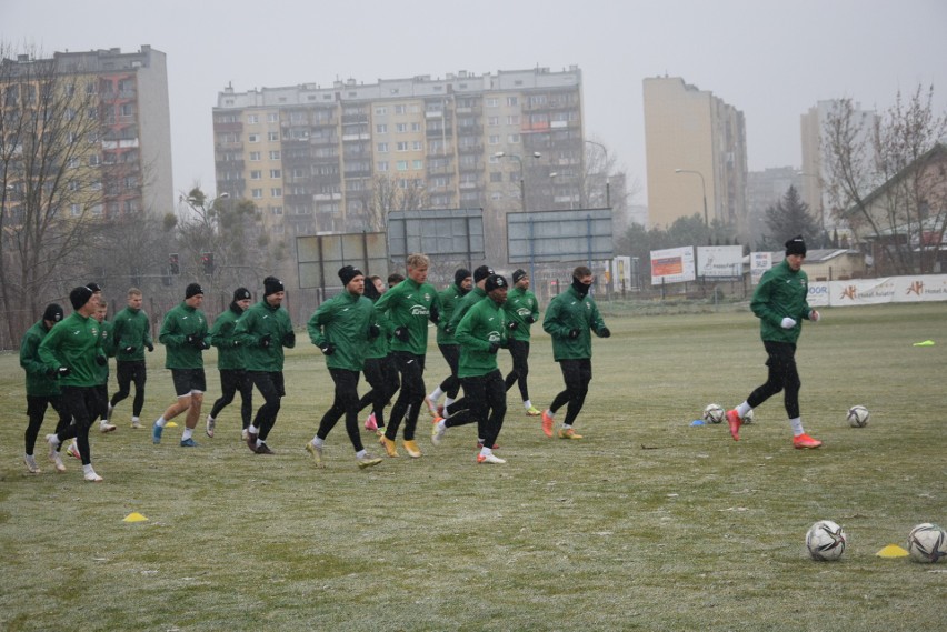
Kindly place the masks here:
POLYGON ((947 116, 935 113, 933 101, 933 87, 925 93, 918 86, 907 102, 898 92, 865 129, 851 99, 841 99, 824 128, 831 212, 858 240, 875 241, 895 273, 930 271, 924 234, 943 233, 947 221, 943 152, 935 151, 947 116))

